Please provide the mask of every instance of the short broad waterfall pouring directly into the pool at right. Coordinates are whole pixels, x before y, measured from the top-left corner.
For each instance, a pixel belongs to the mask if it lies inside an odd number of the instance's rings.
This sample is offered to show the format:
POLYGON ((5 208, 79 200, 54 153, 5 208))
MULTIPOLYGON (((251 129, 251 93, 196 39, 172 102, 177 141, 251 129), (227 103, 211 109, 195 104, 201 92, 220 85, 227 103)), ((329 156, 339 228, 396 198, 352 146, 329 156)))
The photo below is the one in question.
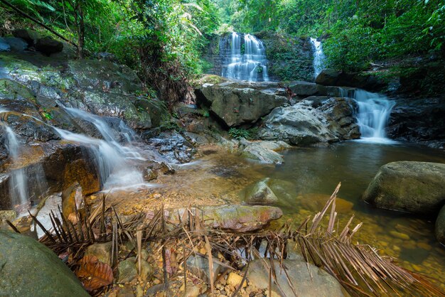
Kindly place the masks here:
POLYGON ((385 128, 395 102, 384 95, 367 92, 365 90, 353 91, 342 89, 342 97, 353 97, 358 104, 357 124, 360 127, 361 139, 375 143, 393 143, 387 139, 385 128))

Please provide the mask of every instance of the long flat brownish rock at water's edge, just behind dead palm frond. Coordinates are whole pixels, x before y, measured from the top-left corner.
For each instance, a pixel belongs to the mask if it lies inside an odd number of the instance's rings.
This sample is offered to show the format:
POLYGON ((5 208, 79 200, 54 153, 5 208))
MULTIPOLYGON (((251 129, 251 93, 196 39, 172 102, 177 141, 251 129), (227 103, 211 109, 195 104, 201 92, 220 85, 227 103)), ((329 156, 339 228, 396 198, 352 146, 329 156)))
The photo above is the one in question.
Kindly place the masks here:
MULTIPOLYGON (((193 209, 195 212, 196 209, 193 209)), ((208 227, 227 229, 236 232, 250 232, 278 220, 283 212, 278 207, 265 205, 219 205, 200 207, 203 222, 208 227)), ((181 208, 168 213, 171 220, 179 220, 186 215, 187 209, 181 208)))

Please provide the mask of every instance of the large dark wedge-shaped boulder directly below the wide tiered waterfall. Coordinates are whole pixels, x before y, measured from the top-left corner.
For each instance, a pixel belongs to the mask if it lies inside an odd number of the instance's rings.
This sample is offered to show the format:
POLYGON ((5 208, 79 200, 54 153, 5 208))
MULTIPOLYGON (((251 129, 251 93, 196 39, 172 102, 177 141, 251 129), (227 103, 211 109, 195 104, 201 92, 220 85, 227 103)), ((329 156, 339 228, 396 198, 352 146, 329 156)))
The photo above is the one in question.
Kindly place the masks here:
MULTIPOLYGON (((270 92, 267 83, 228 81, 204 84, 196 90, 198 104, 210 109, 226 126, 252 124, 287 102, 286 97, 270 92)), ((277 85, 272 83, 271 87, 277 85)))

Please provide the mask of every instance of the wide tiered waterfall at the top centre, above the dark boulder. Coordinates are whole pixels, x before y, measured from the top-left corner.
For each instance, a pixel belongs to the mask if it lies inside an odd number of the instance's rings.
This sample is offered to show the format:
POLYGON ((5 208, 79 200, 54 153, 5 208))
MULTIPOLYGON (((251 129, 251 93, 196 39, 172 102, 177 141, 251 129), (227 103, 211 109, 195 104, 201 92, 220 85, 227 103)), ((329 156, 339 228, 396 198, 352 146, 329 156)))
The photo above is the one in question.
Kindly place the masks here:
POLYGON ((266 48, 258 38, 233 32, 231 41, 223 41, 220 47, 223 47, 220 53, 227 55, 223 61, 223 77, 250 82, 269 81, 266 48))

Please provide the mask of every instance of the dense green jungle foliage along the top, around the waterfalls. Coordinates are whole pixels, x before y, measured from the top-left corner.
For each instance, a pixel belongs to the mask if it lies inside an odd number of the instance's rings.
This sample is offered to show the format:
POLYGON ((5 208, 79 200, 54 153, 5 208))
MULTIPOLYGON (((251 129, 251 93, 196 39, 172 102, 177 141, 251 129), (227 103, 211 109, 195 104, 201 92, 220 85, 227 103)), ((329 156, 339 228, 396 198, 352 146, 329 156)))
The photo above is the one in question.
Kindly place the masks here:
POLYGON ((210 33, 318 36, 328 64, 343 70, 445 57, 444 0, 1 0, 0 35, 23 26, 48 33, 5 2, 76 43, 80 55, 113 53, 171 103, 188 99, 188 81, 209 66, 200 57, 210 33))

